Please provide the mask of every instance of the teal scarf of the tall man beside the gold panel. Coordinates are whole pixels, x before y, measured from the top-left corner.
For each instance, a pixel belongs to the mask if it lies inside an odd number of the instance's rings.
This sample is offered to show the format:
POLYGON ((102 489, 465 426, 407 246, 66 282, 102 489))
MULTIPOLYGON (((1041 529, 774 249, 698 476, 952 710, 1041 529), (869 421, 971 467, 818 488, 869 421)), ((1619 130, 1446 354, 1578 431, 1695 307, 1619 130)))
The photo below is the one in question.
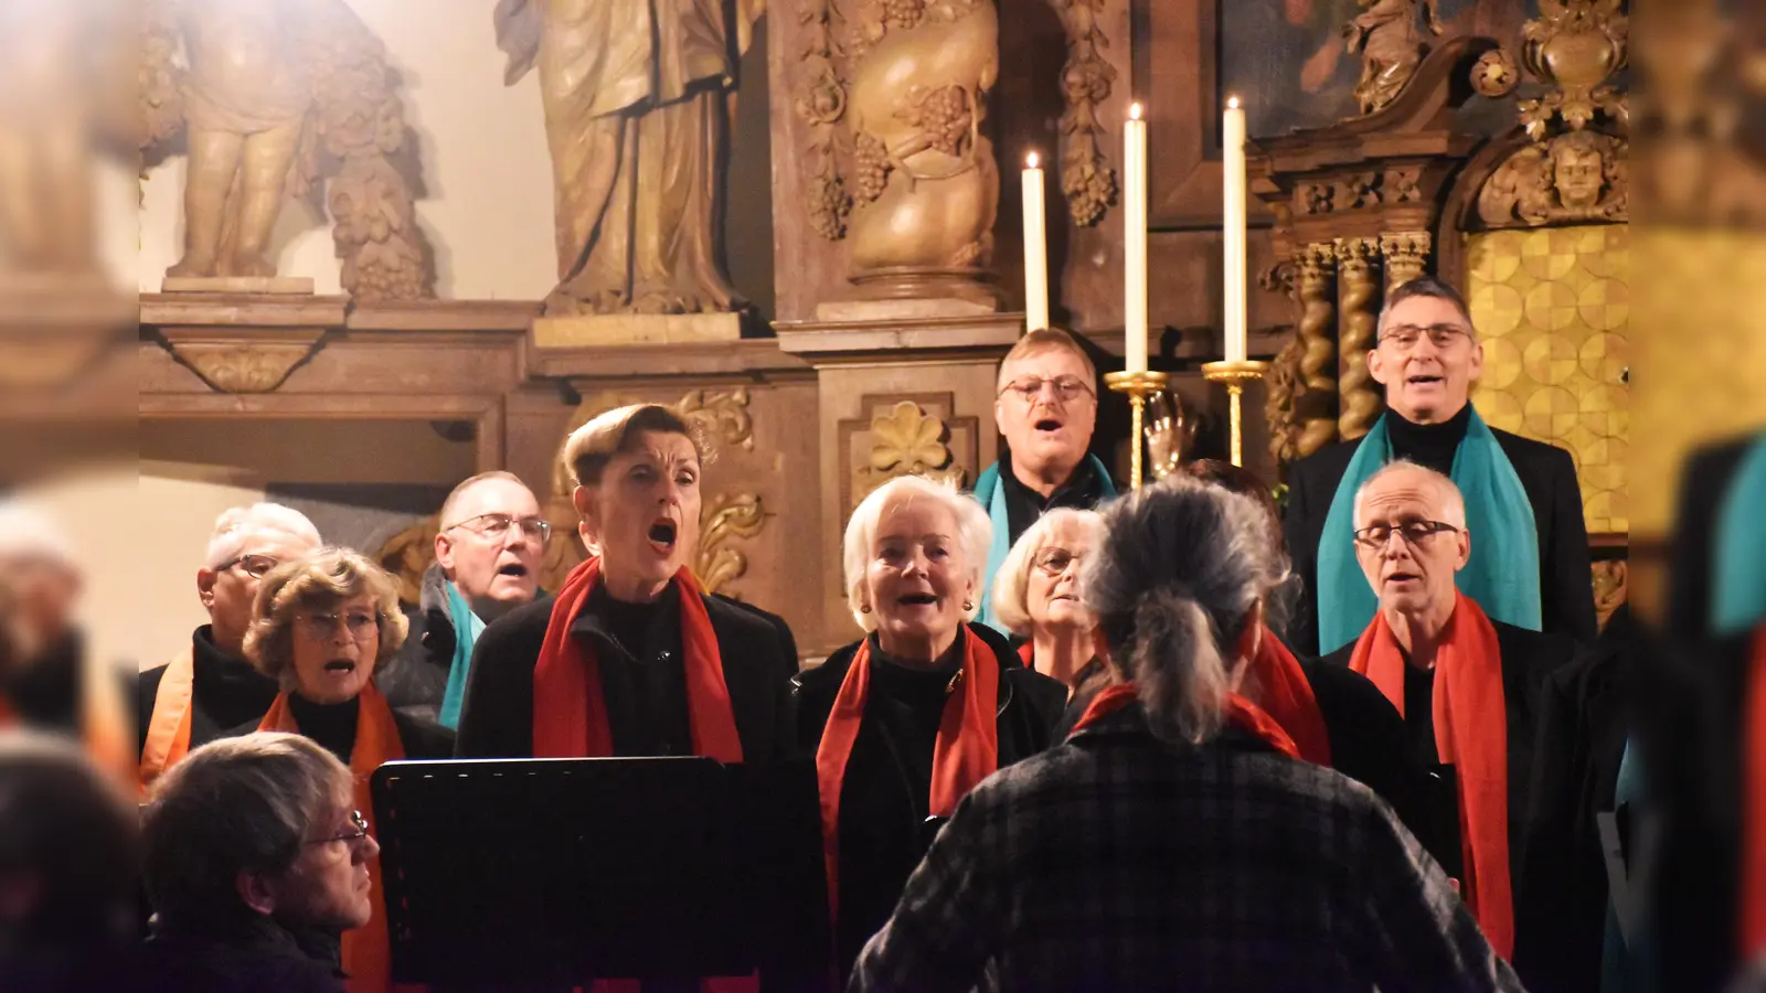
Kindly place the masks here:
MULTIPOLYGON (((1362 438, 1324 516, 1317 571, 1319 654, 1360 638, 1379 610, 1379 599, 1355 558, 1355 495, 1392 461, 1386 417, 1392 413, 1383 413, 1362 438)), ((1533 504, 1476 410, 1453 452, 1450 475, 1466 498, 1466 530, 1471 532, 1471 562, 1457 578, 1460 592, 1476 601, 1491 620, 1538 631, 1540 546, 1533 504)))

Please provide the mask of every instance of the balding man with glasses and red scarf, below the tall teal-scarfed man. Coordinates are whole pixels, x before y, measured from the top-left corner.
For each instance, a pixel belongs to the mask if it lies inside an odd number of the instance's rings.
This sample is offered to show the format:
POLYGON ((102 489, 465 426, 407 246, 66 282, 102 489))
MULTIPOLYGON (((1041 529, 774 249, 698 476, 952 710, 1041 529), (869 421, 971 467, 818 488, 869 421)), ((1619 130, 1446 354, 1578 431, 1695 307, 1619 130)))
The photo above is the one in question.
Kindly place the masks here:
POLYGON ((1445 868, 1491 947, 1512 958, 1540 696, 1575 641, 1492 620, 1459 590, 1476 535, 1459 488, 1432 468, 1395 461, 1362 484, 1355 555, 1379 610, 1324 661, 1365 675, 1399 709, 1415 758, 1441 783, 1430 820, 1459 832, 1457 846, 1430 850, 1460 855, 1445 868))

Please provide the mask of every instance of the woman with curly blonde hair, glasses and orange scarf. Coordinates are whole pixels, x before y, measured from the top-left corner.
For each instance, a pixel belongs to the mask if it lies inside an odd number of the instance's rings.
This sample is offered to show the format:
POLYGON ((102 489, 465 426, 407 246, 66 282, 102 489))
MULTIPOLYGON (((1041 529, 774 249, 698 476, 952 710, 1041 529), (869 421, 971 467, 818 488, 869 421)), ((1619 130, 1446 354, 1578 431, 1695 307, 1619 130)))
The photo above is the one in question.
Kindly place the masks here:
MULTIPOLYGON (((260 731, 306 735, 350 767, 364 832, 374 829, 367 779, 387 762, 449 758, 452 735, 396 714, 374 687, 374 666, 404 643, 397 581, 366 557, 327 548, 272 569, 258 587, 245 657, 281 684, 260 731)), ((369 862, 374 913, 343 933, 350 993, 390 988, 380 860, 369 862)))

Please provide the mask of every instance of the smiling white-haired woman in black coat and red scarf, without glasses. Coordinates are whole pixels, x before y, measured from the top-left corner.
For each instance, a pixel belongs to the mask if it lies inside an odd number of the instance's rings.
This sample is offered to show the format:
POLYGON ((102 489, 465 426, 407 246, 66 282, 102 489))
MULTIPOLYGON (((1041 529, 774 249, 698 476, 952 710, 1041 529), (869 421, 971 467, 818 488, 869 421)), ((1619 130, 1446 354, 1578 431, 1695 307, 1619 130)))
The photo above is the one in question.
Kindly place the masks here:
POLYGON ((1065 686, 975 622, 991 537, 980 504, 911 475, 865 496, 846 525, 846 599, 865 636, 796 677, 842 975, 920 864, 927 818, 1049 747, 1067 701, 1065 686))

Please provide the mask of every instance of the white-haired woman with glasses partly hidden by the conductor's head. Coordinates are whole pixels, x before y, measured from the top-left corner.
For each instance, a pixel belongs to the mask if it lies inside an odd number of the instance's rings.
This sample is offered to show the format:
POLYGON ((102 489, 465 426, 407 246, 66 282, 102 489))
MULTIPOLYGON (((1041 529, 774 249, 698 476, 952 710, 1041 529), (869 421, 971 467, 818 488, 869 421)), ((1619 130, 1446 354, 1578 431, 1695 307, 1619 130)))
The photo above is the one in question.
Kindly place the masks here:
POLYGON ((1079 569, 1104 542, 1097 511, 1056 507, 1030 525, 994 574, 992 610, 1024 640, 1019 657, 1074 691, 1095 666, 1091 615, 1079 597, 1079 569))

